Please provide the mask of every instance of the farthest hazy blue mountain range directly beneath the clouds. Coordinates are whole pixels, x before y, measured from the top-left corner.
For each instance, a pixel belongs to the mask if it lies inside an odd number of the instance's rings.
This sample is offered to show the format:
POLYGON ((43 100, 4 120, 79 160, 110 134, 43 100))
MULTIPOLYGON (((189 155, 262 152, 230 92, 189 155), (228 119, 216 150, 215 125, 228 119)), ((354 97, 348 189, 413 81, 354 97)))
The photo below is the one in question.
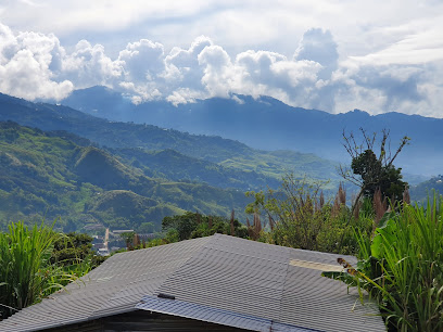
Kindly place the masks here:
POLYGON ((76 90, 61 103, 110 120, 220 136, 255 149, 314 153, 342 163, 350 161, 342 146, 343 130, 354 132, 358 142, 363 140, 360 127, 369 135, 388 129, 393 153, 401 138, 412 139, 395 163, 404 171, 428 177, 442 173, 443 119, 438 118, 395 112, 372 116, 358 110, 330 114, 292 107, 269 97, 236 94, 176 106, 166 101, 136 105, 105 87, 76 90))

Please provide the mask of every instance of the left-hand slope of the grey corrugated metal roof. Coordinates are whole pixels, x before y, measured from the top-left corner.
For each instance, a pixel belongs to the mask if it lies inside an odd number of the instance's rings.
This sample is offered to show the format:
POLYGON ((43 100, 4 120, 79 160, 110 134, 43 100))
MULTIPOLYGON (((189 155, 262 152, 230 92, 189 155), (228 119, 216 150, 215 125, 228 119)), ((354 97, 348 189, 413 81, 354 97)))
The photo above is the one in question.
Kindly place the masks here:
POLYGON ((121 253, 62 291, 0 322, 0 331, 38 331, 135 310, 211 238, 121 253))

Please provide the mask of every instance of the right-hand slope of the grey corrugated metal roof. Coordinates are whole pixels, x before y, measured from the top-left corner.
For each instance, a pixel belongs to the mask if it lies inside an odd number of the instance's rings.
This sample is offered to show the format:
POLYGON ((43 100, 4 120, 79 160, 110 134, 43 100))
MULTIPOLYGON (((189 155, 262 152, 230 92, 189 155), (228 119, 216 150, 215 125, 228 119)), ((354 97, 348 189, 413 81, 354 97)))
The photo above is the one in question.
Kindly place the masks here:
MULTIPOLYGON (((356 290, 347 292, 344 283, 321 277, 320 270, 308 268, 307 264, 290 265, 291 260, 303 260, 316 267, 340 268, 338 257, 356 261, 351 256, 216 235, 172 273, 159 292, 174 295, 176 301, 287 324, 280 328, 282 331, 288 327, 383 331, 381 317, 374 316, 378 310, 370 305, 362 306, 356 290)), ((195 319, 216 322, 200 314, 195 314, 195 319)), ((241 324, 235 325, 250 329, 241 324)))

